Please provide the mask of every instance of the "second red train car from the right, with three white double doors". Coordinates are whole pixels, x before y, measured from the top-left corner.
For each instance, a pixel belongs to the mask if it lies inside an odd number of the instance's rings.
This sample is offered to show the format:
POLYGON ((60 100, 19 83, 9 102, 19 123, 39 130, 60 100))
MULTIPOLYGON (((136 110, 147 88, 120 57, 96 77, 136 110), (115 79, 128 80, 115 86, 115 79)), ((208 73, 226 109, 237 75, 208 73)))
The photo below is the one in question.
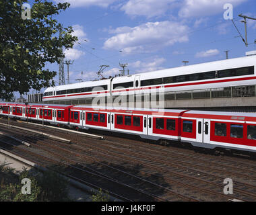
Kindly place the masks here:
POLYGON ((180 140, 179 125, 185 110, 114 110, 105 107, 75 105, 71 107, 71 126, 95 128, 128 134, 141 138, 180 140))

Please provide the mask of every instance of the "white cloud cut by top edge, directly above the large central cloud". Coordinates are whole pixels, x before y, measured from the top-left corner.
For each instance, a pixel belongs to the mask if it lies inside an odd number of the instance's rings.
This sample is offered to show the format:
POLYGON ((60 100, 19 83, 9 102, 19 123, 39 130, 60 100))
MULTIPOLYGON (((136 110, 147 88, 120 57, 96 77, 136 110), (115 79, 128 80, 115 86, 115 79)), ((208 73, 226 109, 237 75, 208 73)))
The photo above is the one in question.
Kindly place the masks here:
POLYGON ((174 1, 176 0, 129 0, 121 7, 121 10, 131 16, 144 15, 146 17, 155 17, 164 15, 174 1))

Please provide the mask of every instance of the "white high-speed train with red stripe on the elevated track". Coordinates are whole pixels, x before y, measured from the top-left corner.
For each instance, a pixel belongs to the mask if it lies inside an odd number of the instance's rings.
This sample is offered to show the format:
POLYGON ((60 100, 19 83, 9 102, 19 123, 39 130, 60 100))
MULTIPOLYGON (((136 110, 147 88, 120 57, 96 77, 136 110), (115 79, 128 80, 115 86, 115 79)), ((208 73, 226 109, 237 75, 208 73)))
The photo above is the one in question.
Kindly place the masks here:
POLYGON ((256 84, 256 55, 193 64, 100 81, 86 81, 44 91, 42 101, 81 100, 152 93, 152 90, 190 91, 256 84))

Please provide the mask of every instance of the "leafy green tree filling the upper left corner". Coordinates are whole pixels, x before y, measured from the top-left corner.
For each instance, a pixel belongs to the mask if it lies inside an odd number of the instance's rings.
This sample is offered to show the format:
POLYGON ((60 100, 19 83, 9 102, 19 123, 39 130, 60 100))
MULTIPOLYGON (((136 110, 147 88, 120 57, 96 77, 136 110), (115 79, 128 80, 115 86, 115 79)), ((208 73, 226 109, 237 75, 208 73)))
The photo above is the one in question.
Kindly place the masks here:
POLYGON ((31 19, 22 19, 24 3, 27 1, 0 0, 0 97, 4 99, 12 97, 14 91, 22 95, 30 89, 39 91, 55 85, 57 73, 46 70, 46 63, 59 62, 61 47, 72 48, 78 40, 71 35, 71 26, 62 28, 55 19, 69 3, 35 0, 31 19))

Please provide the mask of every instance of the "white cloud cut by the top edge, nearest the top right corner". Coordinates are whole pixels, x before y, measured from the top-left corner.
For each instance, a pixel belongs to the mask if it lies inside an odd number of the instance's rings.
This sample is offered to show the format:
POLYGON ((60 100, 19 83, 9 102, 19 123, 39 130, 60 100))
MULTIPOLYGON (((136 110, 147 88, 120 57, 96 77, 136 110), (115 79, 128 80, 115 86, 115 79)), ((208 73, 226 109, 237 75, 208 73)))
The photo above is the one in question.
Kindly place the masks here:
POLYGON ((180 17, 202 17, 224 13, 223 6, 230 3, 233 6, 240 5, 247 0, 184 0, 184 5, 179 11, 180 17))

